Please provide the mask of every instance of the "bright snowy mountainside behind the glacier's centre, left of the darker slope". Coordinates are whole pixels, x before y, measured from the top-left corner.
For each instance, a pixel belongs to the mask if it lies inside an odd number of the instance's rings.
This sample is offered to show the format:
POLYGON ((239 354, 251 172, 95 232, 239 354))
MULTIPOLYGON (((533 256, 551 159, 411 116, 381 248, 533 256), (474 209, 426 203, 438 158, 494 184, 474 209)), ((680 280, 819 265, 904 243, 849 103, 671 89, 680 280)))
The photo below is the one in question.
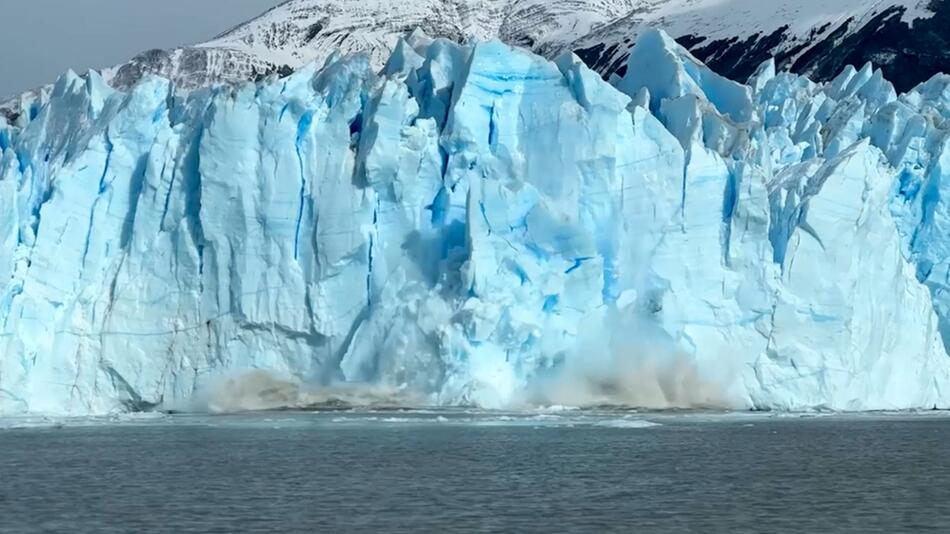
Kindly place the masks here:
POLYGON ((292 67, 322 61, 334 50, 369 51, 377 64, 397 40, 418 28, 454 41, 502 41, 559 52, 606 26, 641 0, 295 0, 202 47, 241 50, 292 67))

